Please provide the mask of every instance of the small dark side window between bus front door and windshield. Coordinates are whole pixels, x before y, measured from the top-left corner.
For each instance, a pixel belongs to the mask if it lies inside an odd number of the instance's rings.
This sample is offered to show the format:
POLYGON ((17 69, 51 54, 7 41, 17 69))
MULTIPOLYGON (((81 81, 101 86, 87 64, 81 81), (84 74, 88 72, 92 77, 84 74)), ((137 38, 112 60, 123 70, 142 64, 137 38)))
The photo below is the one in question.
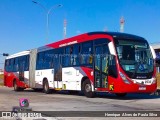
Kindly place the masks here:
POLYGON ((114 78, 117 78, 118 72, 117 72, 117 67, 116 67, 116 59, 114 55, 110 55, 108 57, 109 59, 109 67, 108 67, 108 75, 112 76, 114 78))

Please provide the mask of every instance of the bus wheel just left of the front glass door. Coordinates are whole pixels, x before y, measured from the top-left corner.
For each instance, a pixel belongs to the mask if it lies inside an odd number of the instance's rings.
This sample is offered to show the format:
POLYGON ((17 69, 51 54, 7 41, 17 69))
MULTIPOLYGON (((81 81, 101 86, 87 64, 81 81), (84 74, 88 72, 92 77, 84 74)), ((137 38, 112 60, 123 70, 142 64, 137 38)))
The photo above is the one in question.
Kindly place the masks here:
POLYGON ((83 82, 82 90, 86 97, 88 98, 94 97, 94 92, 92 92, 92 86, 91 86, 89 79, 83 82))

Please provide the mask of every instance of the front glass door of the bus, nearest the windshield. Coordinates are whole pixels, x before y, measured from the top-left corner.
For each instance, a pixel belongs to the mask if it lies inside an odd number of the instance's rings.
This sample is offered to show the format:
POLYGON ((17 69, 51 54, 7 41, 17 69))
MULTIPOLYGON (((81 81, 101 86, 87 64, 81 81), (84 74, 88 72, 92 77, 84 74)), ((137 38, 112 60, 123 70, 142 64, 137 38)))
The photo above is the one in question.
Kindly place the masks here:
POLYGON ((95 50, 94 80, 95 88, 108 87, 108 45, 97 45, 95 50))

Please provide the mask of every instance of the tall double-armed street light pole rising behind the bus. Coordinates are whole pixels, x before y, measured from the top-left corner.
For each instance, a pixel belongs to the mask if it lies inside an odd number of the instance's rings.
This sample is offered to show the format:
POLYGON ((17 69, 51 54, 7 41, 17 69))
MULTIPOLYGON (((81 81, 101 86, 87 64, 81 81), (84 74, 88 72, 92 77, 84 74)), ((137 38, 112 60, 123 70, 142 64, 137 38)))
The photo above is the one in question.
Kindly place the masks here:
POLYGON ((43 8, 44 9, 44 11, 46 12, 46 20, 47 20, 47 22, 46 22, 46 40, 48 41, 48 39, 49 39, 49 15, 50 15, 50 13, 51 13, 51 11, 53 10, 53 9, 56 9, 56 8, 58 8, 58 7, 62 7, 62 5, 61 4, 58 4, 58 5, 54 5, 54 6, 52 6, 50 9, 47 9, 44 5, 42 5, 41 3, 39 3, 39 2, 36 2, 36 1, 32 1, 34 4, 37 4, 37 5, 39 5, 41 8, 43 8))

